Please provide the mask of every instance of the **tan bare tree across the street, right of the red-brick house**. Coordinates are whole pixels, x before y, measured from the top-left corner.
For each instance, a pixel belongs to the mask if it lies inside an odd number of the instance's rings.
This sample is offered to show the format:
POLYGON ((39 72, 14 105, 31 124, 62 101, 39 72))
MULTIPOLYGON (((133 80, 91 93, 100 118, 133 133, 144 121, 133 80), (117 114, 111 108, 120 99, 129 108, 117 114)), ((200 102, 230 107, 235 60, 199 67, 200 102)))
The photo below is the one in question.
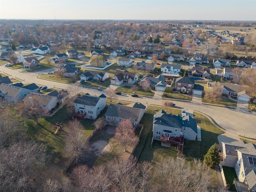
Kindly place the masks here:
POLYGON ((221 85, 218 82, 213 82, 212 86, 204 90, 204 99, 213 102, 220 101, 222 97, 221 85))

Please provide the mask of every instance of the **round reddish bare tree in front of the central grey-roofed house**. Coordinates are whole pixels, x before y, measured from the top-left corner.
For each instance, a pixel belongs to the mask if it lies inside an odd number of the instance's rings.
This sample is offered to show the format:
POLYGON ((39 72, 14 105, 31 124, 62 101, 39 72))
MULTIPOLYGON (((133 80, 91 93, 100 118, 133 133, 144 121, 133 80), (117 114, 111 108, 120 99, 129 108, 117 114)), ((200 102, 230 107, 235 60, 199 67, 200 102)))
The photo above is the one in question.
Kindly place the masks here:
POLYGON ((115 139, 122 144, 125 152, 128 146, 136 143, 138 137, 135 135, 134 128, 129 120, 122 120, 116 127, 115 139))

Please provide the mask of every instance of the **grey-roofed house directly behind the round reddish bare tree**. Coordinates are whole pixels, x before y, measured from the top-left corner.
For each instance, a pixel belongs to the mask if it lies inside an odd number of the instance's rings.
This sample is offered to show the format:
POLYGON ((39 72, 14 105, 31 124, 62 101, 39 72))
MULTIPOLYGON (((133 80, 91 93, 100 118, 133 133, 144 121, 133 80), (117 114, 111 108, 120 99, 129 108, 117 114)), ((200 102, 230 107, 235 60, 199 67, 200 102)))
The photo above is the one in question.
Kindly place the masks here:
POLYGON ((108 125, 118 126, 122 120, 129 120, 136 127, 145 113, 146 106, 135 103, 133 106, 110 104, 105 116, 108 125))

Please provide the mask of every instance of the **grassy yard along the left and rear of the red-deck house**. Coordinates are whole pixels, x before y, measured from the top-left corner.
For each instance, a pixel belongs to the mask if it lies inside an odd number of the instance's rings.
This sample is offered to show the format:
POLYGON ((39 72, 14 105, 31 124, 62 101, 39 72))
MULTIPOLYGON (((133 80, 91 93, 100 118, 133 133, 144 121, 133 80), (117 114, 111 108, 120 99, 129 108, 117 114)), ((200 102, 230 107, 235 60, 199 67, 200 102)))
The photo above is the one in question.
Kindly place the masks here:
MULTIPOLYGON (((146 109, 146 114, 144 114, 140 121, 140 124, 143 124, 144 128, 140 136, 140 142, 134 152, 134 156, 136 156, 139 161, 150 161, 153 164, 161 164, 163 158, 170 156, 177 157, 178 151, 176 148, 162 147, 160 141, 154 141, 151 148, 153 116, 156 114, 155 109, 161 110, 164 108, 160 106, 148 106, 146 109)), ((164 110, 166 111, 166 109, 164 110)), ((169 108, 168 112, 171 112, 172 114, 180 114, 180 110, 175 108, 169 108)))

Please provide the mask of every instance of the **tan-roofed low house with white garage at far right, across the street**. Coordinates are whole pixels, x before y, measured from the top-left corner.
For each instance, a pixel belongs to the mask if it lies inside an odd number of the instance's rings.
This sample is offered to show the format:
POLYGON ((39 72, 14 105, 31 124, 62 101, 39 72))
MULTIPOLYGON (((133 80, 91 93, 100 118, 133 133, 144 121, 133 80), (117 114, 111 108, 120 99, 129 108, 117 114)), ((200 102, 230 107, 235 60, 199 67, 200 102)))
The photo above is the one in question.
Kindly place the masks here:
MULTIPOLYGON (((220 85, 223 95, 231 96, 233 99, 238 99, 238 100, 243 100, 248 102, 251 100, 251 97, 248 94, 246 94, 246 89, 248 87, 241 86, 238 84, 221 83, 221 82, 217 82, 217 83, 220 85)), ((211 88, 212 84, 214 84, 214 82, 208 82, 207 88, 211 88)))

